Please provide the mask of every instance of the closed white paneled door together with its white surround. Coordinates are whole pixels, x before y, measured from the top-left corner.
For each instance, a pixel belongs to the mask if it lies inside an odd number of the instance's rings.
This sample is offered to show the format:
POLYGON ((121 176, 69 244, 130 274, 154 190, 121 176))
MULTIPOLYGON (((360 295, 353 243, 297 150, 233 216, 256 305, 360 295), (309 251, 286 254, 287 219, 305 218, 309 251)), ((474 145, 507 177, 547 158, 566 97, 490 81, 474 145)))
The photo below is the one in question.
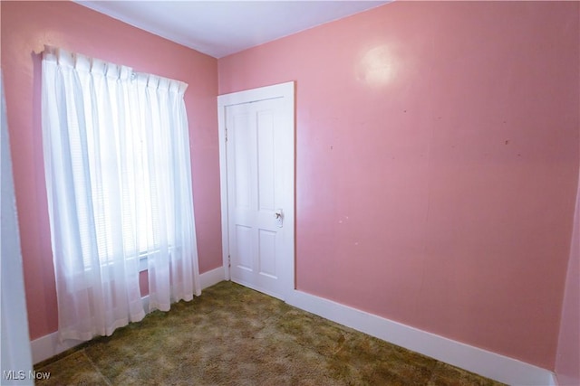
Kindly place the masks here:
POLYGON ((285 299, 294 289, 294 84, 218 100, 229 277, 285 299))

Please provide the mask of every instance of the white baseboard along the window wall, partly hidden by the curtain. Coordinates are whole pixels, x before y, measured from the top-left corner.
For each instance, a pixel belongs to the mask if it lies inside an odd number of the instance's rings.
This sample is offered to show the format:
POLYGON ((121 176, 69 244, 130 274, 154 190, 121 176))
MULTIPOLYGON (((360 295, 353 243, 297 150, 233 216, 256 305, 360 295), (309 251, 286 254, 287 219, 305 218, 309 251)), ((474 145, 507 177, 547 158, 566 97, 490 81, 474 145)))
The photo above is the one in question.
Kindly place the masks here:
MULTIPOLYGON (((201 284, 201 289, 205 289, 207 287, 213 286, 214 284, 218 284, 220 281, 223 281, 224 278, 224 268, 219 267, 200 274, 199 283, 201 284)), ((142 297, 142 301, 145 309, 149 309, 149 296, 142 297)), ((64 351, 82 343, 82 341, 75 341, 71 339, 64 341, 63 344, 60 344, 58 341, 58 334, 56 332, 41 336, 40 338, 34 339, 34 341, 30 343, 33 354, 33 363, 35 364, 42 362, 45 359, 51 358, 59 353, 63 353, 64 351)))

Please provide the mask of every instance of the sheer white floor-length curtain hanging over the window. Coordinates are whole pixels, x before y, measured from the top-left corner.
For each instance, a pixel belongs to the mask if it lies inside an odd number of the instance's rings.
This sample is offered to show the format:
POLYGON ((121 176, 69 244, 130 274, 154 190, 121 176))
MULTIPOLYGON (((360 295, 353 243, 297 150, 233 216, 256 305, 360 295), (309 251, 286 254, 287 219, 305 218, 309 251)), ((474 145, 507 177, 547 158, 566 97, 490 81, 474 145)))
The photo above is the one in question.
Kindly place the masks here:
POLYGON ((45 47, 43 151, 61 340, 200 294, 187 84, 45 47))

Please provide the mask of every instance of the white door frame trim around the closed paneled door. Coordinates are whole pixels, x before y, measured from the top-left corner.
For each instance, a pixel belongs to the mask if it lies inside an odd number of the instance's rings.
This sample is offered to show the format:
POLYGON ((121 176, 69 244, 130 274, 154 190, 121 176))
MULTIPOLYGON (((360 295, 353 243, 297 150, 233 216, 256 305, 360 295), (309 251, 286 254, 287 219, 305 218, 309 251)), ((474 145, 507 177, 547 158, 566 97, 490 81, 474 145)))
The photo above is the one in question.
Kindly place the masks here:
MULTIPOLYGON (((273 86, 261 87, 258 89, 248 89, 244 91, 233 92, 218 96, 218 139, 219 139, 219 181, 221 195, 221 234, 222 234, 222 256, 224 263, 224 277, 229 280, 229 224, 227 213, 227 128, 226 128, 226 108, 227 106, 238 105, 242 103, 256 102, 266 99, 282 98, 283 110, 285 116, 290 119, 292 126, 292 137, 295 138, 295 82, 275 84, 273 86)), ((295 142, 292 146, 292 165, 295 165, 295 142)), ((295 174, 295 166, 293 167, 295 174)), ((284 297, 289 297, 295 289, 295 175, 292 178, 292 195, 294 197, 293 207, 285 208, 285 227, 290 229, 287 232, 292 237, 292 250, 285 251, 288 261, 285 261, 285 267, 289 270, 284 285, 284 297), (291 260, 291 261, 289 261, 291 260)))

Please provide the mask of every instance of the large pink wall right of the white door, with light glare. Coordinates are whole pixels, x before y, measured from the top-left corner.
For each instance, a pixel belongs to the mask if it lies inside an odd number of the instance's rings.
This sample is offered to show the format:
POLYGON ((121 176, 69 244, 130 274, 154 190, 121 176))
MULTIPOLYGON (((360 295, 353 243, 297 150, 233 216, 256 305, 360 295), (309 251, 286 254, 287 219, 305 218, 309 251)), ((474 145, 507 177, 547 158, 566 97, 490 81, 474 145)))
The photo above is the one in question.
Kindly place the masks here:
POLYGON ((578 12, 395 2, 220 59, 220 94, 296 80, 297 287, 554 369, 578 12))

